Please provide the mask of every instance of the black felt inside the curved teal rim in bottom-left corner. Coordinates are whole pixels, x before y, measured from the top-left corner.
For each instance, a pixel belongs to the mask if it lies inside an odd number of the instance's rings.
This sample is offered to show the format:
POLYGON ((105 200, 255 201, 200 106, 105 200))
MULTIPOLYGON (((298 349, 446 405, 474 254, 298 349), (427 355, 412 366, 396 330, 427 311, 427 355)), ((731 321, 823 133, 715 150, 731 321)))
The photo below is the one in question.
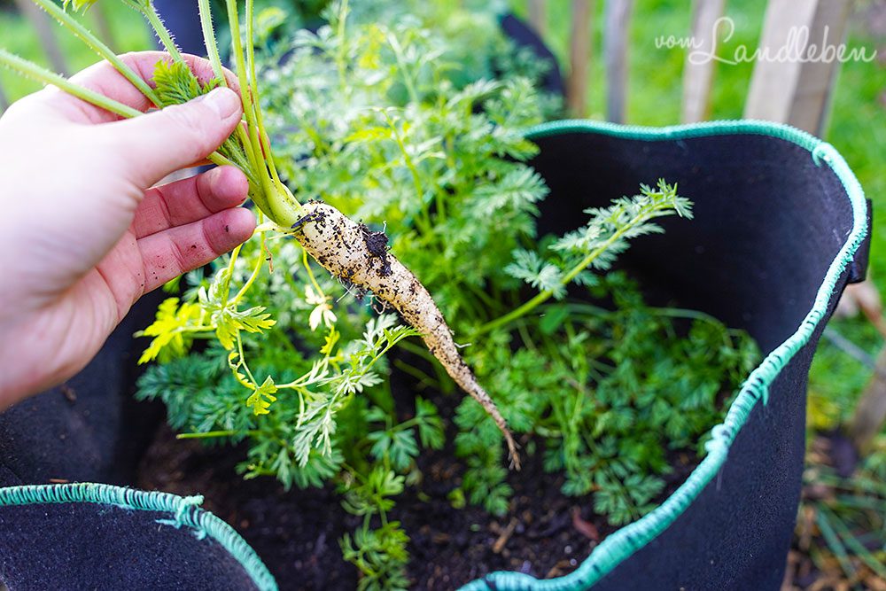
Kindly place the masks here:
POLYGON ((0 572, 10 591, 256 588, 216 541, 156 521, 168 518, 84 503, 0 509, 0 572))

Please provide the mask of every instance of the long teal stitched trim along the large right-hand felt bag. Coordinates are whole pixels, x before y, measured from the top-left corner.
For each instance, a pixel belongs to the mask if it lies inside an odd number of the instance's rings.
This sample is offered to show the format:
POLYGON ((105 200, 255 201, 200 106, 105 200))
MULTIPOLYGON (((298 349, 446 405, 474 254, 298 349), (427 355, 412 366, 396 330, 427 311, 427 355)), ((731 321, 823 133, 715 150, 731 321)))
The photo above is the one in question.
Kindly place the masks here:
POLYGON ((744 134, 776 137, 808 150, 816 166, 824 162, 834 171, 852 206, 852 231, 843 248, 831 262, 828 272, 815 296, 812 309, 805 316, 797 331, 766 356, 757 369, 754 369, 742 385, 729 408, 723 424, 711 430, 711 440, 705 445, 708 454, 686 482, 651 513, 612 533, 602 541, 570 574, 557 579, 539 580, 519 572, 493 572, 485 579, 477 579, 462 587, 462 591, 573 591, 587 589, 595 585, 604 575, 611 572, 634 552, 646 546, 659 533, 664 532, 688 506, 696 500, 705 486, 717 475, 726 462, 735 436, 747 422, 750 411, 758 400, 764 404, 769 400, 769 385, 797 354, 819 325, 828 310, 828 302, 834 293, 843 269, 851 263, 856 251, 867 236, 867 204, 865 194, 858 179, 834 146, 797 128, 769 121, 709 121, 694 125, 680 125, 667 128, 642 128, 623 126, 600 121, 553 121, 531 128, 526 136, 535 139, 565 133, 595 133, 624 137, 642 141, 680 140, 704 136, 744 134), (488 581, 488 582, 487 582, 488 581))

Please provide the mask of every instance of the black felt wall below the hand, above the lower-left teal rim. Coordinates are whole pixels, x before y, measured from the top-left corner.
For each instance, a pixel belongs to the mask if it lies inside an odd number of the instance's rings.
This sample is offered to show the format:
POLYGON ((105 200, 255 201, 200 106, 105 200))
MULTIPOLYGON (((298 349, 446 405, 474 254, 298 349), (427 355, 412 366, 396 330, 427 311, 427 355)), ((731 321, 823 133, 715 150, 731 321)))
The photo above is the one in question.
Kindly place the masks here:
POLYGON ((163 409, 133 400, 144 341, 132 334, 151 323, 162 297, 139 301, 80 374, 0 414, 0 486, 134 479, 163 409))

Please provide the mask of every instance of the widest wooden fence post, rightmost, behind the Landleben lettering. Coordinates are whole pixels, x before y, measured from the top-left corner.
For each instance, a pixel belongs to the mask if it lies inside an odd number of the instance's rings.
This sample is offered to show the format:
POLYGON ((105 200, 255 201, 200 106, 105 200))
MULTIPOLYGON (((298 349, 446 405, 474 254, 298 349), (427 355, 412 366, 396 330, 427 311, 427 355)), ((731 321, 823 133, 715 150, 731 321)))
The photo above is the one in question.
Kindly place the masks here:
POLYGON ((769 0, 760 50, 774 58, 758 59, 754 66, 745 117, 822 134, 839 65, 836 59, 823 58, 822 46, 843 43, 850 4, 851 0, 769 0), (801 46, 804 38, 808 41, 801 46), (815 55, 810 54, 812 45, 815 55), (776 59, 780 51, 786 58, 776 59))

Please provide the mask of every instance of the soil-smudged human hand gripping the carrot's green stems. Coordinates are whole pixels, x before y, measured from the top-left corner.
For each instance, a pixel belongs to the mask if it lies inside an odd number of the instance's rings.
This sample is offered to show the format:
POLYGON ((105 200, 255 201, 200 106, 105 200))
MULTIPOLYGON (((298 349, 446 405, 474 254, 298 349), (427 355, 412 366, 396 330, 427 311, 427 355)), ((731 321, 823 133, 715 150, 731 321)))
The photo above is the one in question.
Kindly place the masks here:
MULTIPOLYGON (((165 57, 123 61, 150 80, 165 57)), ((212 77, 206 60, 186 58, 201 82, 212 77)), ((72 81, 152 106, 107 62, 72 81)), ((0 409, 73 376, 144 293, 252 235, 235 167, 151 188, 206 159, 241 113, 236 92, 215 89, 119 121, 50 87, 0 117, 0 409)))

